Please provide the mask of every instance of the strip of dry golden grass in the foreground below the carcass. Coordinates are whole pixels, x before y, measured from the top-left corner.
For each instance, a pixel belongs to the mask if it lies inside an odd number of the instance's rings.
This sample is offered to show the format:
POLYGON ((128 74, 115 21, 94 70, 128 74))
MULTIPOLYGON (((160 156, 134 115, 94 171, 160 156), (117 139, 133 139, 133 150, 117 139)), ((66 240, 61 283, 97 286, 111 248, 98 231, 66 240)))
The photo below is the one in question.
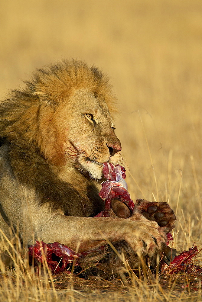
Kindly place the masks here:
POLYGON ((39 267, 36 274, 34 267, 28 264, 26 249, 20 245, 16 250, 12 249, 11 258, 15 262, 15 270, 5 269, 4 264, 0 264, 2 302, 201 300, 201 274, 194 270, 173 275, 162 272, 157 277, 148 270, 142 270, 143 274, 137 277, 125 265, 123 271, 128 273, 128 277, 108 281, 99 277, 83 279, 67 273, 52 276, 47 263, 39 267))

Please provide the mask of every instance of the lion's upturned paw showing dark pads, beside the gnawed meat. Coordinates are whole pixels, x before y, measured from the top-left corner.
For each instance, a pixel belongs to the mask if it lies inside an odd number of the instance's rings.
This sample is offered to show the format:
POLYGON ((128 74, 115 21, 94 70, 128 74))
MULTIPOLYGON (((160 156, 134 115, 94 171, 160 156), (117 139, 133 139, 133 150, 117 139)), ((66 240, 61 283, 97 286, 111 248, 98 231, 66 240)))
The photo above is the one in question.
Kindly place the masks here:
POLYGON ((174 228, 176 216, 166 202, 150 202, 144 199, 137 199, 135 209, 148 220, 156 221, 166 233, 174 228))

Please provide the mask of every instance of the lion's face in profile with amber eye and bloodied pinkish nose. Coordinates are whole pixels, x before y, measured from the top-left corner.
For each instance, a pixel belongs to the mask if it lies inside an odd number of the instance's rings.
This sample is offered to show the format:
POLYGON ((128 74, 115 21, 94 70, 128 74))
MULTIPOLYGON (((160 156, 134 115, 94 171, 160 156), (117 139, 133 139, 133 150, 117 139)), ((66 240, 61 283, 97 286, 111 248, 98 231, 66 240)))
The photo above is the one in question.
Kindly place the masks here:
POLYGON ((86 90, 77 91, 60 108, 58 125, 63 131, 67 165, 89 172, 94 179, 102 176, 103 162, 119 160, 121 143, 105 101, 86 90))

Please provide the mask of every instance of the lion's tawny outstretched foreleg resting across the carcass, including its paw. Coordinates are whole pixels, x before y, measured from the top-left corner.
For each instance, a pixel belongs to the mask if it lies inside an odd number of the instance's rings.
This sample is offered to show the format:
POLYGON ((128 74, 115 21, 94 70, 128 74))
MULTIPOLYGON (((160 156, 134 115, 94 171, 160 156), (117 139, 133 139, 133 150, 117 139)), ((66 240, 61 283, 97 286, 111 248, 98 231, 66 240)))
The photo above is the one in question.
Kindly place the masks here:
POLYGON ((156 222, 141 215, 135 220, 60 214, 54 214, 49 219, 45 219, 44 215, 37 217, 35 239, 39 237, 46 243, 57 241, 73 250, 79 244, 79 252, 95 249, 108 242, 125 240, 134 252, 151 256, 162 250, 167 239, 156 222))

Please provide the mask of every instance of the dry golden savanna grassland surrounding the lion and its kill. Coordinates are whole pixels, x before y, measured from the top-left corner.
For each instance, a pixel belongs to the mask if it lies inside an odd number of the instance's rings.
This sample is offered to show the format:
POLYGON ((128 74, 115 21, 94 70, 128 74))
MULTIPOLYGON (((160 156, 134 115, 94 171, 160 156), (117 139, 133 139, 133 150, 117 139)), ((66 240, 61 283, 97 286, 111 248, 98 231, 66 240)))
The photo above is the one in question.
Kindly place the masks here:
MULTIPOLYGON (((103 68, 119 99, 116 134, 132 199, 168 201, 177 213, 174 247, 202 248, 201 1, 2 0, 0 23, 1 99, 63 57, 103 68)), ((18 253, 15 271, 4 274, 1 263, 0 300, 201 301, 199 279, 37 276, 18 253)))

